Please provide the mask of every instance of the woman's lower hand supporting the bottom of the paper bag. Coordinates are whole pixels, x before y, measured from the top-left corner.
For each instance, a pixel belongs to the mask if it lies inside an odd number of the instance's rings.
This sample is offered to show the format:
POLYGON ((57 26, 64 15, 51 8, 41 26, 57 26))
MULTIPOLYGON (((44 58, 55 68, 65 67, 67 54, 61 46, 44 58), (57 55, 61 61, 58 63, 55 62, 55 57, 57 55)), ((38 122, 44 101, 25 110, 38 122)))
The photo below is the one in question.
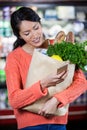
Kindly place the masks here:
POLYGON ((46 118, 51 118, 57 110, 58 100, 55 97, 49 99, 43 106, 43 108, 38 112, 38 114, 45 116, 46 118))

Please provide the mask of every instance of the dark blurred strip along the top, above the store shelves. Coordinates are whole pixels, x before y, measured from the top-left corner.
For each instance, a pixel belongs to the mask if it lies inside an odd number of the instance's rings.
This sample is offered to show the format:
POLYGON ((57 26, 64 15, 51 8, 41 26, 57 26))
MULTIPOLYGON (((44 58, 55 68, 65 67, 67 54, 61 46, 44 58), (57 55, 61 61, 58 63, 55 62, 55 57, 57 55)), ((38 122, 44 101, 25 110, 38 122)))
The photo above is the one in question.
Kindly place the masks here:
POLYGON ((50 1, 47 1, 47 0, 43 0, 43 1, 40 1, 40 0, 37 0, 37 1, 28 1, 26 0, 26 2, 24 0, 21 0, 21 1, 0 1, 0 7, 3 7, 3 6, 37 6, 37 7, 51 7, 51 6, 55 6, 55 5, 67 5, 67 6, 70 6, 70 5, 81 5, 81 6, 86 6, 87 5, 87 1, 86 0, 66 0, 66 1, 63 1, 63 0, 50 0, 50 1))

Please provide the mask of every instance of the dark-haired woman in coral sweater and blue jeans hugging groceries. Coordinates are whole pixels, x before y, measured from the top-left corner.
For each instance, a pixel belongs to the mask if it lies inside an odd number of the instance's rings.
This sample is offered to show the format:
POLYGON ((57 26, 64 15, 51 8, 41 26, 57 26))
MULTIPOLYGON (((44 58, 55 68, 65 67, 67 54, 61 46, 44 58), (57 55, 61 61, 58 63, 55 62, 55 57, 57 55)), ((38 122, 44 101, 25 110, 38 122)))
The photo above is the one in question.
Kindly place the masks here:
POLYGON ((73 83, 68 89, 55 94, 47 101, 43 108, 34 114, 22 110, 48 93, 48 87, 62 82, 67 72, 53 73, 43 80, 39 80, 31 87, 25 89, 28 68, 31 63, 34 48, 43 43, 43 32, 40 17, 30 8, 21 7, 11 15, 11 26, 17 37, 14 50, 9 53, 6 60, 6 82, 9 102, 14 110, 20 130, 66 130, 68 113, 64 116, 54 116, 57 107, 64 106, 85 90, 87 82, 81 70, 77 70, 73 83))

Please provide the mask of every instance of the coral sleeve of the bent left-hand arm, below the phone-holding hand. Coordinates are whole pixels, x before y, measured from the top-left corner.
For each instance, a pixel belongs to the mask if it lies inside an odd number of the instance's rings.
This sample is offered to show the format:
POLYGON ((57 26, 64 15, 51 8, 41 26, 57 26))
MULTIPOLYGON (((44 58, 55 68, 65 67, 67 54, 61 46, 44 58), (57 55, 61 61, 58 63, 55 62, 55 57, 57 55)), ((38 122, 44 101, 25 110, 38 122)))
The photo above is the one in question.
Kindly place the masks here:
POLYGON ((13 108, 19 109, 47 95, 47 89, 41 91, 40 81, 29 88, 23 89, 22 80, 24 79, 22 79, 20 73, 23 73, 25 77, 24 69, 26 68, 23 68, 20 72, 21 65, 18 64, 16 59, 16 56, 8 56, 5 72, 9 103, 13 108))

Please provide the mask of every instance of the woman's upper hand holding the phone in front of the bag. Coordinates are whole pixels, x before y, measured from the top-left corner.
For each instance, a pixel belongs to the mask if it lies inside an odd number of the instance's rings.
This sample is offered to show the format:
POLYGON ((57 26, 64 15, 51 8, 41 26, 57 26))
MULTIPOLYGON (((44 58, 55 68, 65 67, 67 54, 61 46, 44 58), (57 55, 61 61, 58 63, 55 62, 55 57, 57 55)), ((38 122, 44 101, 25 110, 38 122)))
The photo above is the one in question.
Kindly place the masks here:
POLYGON ((40 81, 41 89, 44 90, 45 88, 56 86, 60 82, 64 81, 67 76, 67 71, 62 71, 59 74, 50 74, 46 78, 40 81))

